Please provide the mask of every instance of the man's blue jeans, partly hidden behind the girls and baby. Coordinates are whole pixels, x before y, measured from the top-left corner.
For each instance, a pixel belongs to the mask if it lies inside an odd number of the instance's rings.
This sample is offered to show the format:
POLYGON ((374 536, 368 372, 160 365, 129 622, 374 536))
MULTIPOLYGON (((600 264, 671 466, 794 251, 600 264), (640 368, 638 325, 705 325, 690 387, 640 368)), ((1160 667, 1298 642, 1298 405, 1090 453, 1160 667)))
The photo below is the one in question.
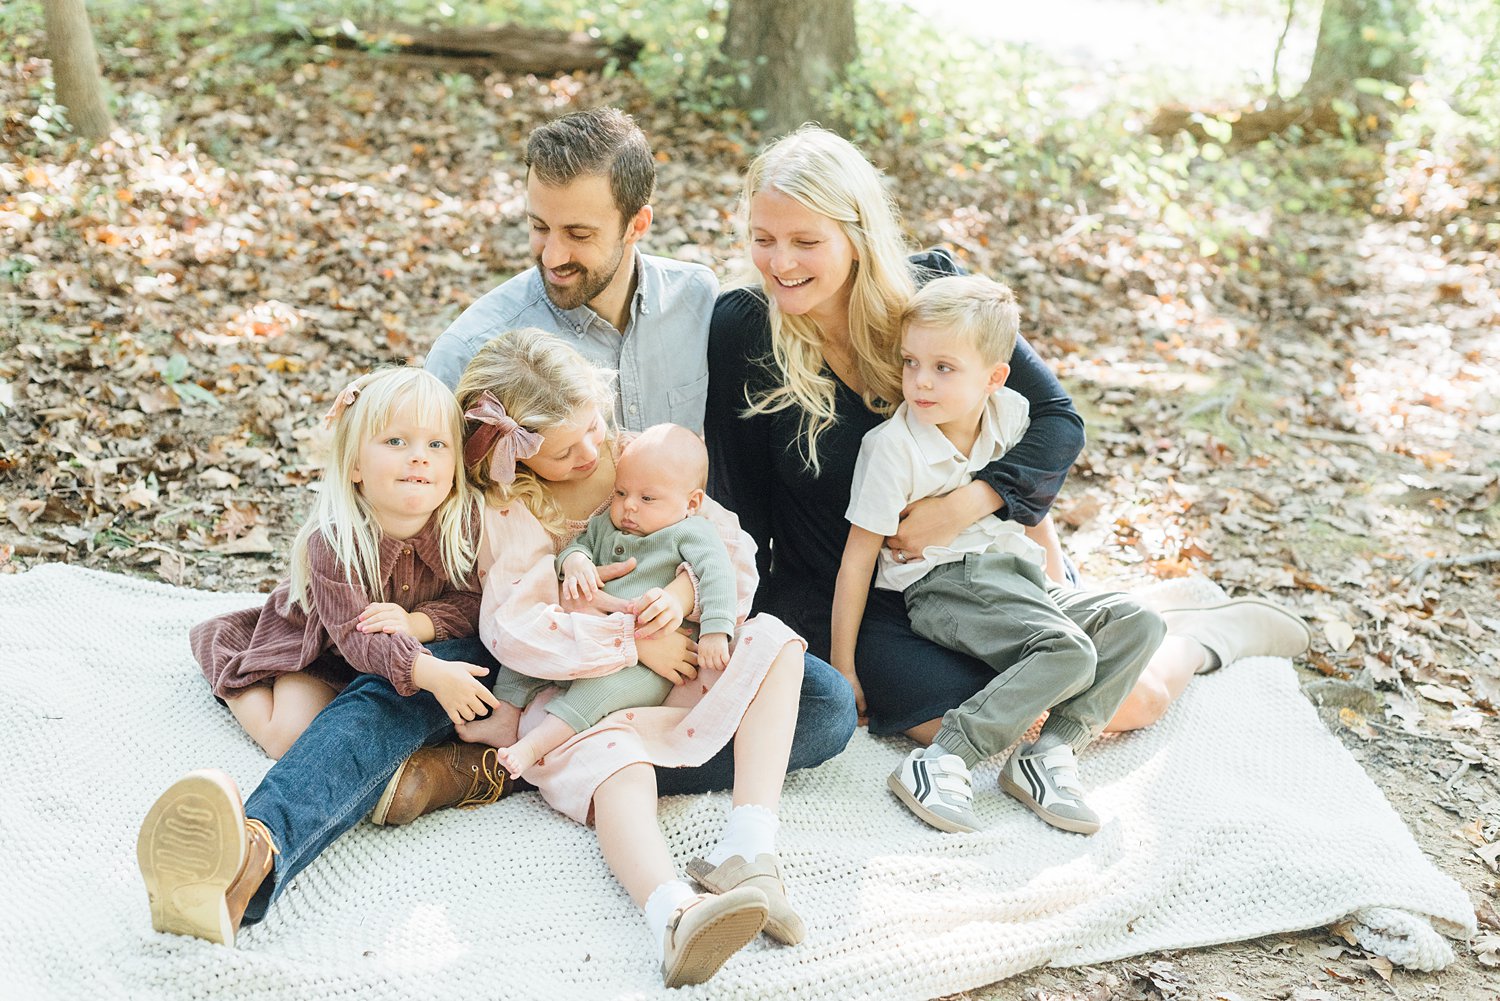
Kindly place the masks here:
MULTIPOLYGON (((441 660, 488 666, 494 678, 495 659, 477 638, 448 639, 429 650, 441 660)), ((849 686, 808 654, 789 767, 812 768, 832 758, 849 743, 854 726, 849 686)), ((244 801, 244 815, 266 824, 280 849, 244 909, 244 924, 266 917, 298 872, 375 809, 402 761, 418 747, 453 737, 453 723, 429 692, 402 696, 374 674, 362 674, 339 692, 244 801)), ((723 747, 698 768, 660 770, 657 783, 663 794, 728 789, 734 785, 734 747, 723 747)))

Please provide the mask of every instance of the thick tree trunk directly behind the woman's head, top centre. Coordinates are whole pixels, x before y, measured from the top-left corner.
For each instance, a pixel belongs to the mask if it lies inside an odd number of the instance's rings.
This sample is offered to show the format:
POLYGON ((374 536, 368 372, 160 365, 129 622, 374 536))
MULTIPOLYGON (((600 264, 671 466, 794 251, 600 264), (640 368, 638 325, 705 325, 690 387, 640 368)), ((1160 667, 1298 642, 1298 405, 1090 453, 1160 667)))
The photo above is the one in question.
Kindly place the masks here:
POLYGON ((746 107, 770 135, 824 117, 825 95, 858 54, 854 0, 730 0, 724 56, 750 65, 746 107))

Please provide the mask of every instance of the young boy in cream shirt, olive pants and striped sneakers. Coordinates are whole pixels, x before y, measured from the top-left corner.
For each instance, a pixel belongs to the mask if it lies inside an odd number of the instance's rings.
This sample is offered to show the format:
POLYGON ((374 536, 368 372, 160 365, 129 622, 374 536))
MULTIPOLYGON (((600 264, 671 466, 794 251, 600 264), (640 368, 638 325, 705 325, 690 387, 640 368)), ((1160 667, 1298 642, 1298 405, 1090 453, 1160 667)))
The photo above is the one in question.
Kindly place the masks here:
POLYGON ((1005 762, 1000 788, 1053 827, 1092 834, 1100 818, 1083 800, 1076 753, 1130 693, 1166 635, 1161 617, 1124 594, 1052 582, 1044 564, 1050 549, 1060 570, 1054 539, 994 515, 918 555, 882 548, 908 504, 969 483, 1022 438, 1029 408, 1005 389, 1018 326, 1011 290, 976 276, 928 282, 902 315, 904 402, 860 447, 834 590, 832 665, 862 705, 855 642, 874 572, 876 587, 903 593, 914 632, 996 674, 944 716, 933 743, 886 785, 933 827, 974 831, 969 768, 1050 710, 1036 741, 1005 762))

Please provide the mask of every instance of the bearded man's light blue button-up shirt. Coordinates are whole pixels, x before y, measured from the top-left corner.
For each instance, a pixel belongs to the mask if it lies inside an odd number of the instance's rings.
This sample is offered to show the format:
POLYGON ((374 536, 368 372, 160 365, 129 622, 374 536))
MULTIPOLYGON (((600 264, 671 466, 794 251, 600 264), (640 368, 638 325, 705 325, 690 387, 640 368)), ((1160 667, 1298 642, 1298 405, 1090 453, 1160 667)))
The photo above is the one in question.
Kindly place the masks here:
POLYGON ((558 309, 530 267, 488 291, 428 351, 426 368, 456 387, 464 368, 492 338, 540 327, 600 368, 620 372, 615 422, 628 431, 676 423, 704 432, 708 401, 708 320, 718 281, 702 264, 636 251, 636 294, 626 332, 586 305, 558 309))

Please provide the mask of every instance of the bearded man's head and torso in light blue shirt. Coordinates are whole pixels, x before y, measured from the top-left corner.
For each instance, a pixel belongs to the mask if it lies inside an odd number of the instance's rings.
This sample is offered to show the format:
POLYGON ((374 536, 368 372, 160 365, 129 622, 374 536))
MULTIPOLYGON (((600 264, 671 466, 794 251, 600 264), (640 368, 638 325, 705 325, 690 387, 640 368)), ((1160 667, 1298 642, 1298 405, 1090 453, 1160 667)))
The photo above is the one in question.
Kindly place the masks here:
POLYGON ((540 327, 620 372, 615 420, 702 434, 708 317, 718 282, 702 264, 651 257, 656 158, 630 116, 578 111, 526 141, 526 218, 536 267, 490 290, 438 336, 426 366, 450 387, 492 338, 540 327))

